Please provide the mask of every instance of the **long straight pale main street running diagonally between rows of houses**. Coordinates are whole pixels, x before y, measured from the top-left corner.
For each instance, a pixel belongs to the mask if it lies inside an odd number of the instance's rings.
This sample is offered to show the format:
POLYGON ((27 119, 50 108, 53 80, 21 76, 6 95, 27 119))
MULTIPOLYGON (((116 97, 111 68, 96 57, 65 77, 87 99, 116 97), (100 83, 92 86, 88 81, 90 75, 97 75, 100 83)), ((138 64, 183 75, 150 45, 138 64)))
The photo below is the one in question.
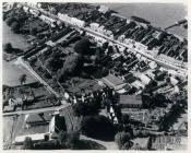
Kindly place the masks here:
MULTIPOLYGON (((23 5, 26 5, 26 4, 24 3, 23 5)), ((48 13, 48 12, 46 12, 46 11, 43 11, 41 9, 34 8, 34 7, 31 7, 31 5, 27 5, 27 7, 29 7, 31 9, 40 11, 43 14, 48 15, 49 17, 51 17, 51 19, 53 19, 53 20, 59 20, 60 22, 67 23, 67 24, 71 25, 71 26, 74 27, 74 28, 88 32, 88 33, 91 33, 91 34, 93 34, 93 35, 96 35, 96 36, 98 36, 98 37, 105 38, 105 39, 107 39, 108 42, 112 42, 112 43, 115 43, 115 44, 118 44, 118 45, 120 45, 120 46, 123 46, 123 47, 126 47, 126 48, 127 48, 127 47, 129 48, 129 46, 128 46, 127 44, 123 44, 123 43, 120 43, 120 42, 115 40, 115 39, 112 39, 112 38, 109 38, 108 36, 104 35, 104 34, 100 34, 100 33, 97 33, 97 32, 95 32, 95 31, 92 31, 91 28, 87 28, 87 27, 79 27, 79 26, 73 25, 73 24, 71 24, 71 23, 69 23, 69 22, 62 21, 62 20, 60 20, 57 15, 50 14, 50 13, 48 13)), ((142 50, 139 50, 139 49, 134 49, 134 51, 138 52, 138 54, 140 54, 140 55, 142 55, 142 56, 144 56, 145 58, 147 58, 147 59, 150 59, 150 60, 153 60, 153 61, 159 63, 160 66, 163 64, 163 66, 166 66, 167 68, 175 69, 175 70, 179 70, 179 71, 181 71, 182 73, 186 73, 186 74, 187 74, 187 68, 184 68, 184 67, 181 68, 181 67, 175 66, 174 63, 170 63, 170 62, 167 61, 167 60, 164 60, 164 61, 163 61, 162 59, 159 59, 159 58, 157 58, 157 57, 153 57, 153 56, 151 56, 151 55, 148 55, 148 54, 146 54, 146 52, 144 52, 144 51, 142 51, 142 50)), ((183 75, 183 76, 184 76, 184 75, 183 75)))

